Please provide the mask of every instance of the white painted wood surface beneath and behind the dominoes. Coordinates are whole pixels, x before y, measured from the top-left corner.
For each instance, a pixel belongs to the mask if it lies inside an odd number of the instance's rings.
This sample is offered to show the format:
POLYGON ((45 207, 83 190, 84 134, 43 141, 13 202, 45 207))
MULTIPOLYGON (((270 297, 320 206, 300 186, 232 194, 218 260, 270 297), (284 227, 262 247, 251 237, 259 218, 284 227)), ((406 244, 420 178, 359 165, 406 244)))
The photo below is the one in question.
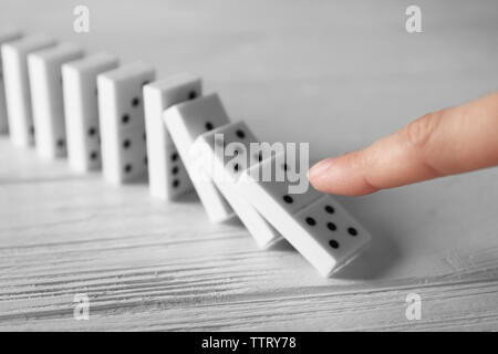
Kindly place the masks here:
MULTIPOLYGON (((0 22, 200 74, 235 119, 314 158, 498 88, 491 0, 418 1, 421 34, 404 30, 407 1, 85 2, 89 34, 62 0, 3 1, 0 22)), ((325 280, 284 244, 210 225, 194 195, 153 200, 2 137, 0 330, 498 330, 497 168, 341 200, 374 240, 325 280)))

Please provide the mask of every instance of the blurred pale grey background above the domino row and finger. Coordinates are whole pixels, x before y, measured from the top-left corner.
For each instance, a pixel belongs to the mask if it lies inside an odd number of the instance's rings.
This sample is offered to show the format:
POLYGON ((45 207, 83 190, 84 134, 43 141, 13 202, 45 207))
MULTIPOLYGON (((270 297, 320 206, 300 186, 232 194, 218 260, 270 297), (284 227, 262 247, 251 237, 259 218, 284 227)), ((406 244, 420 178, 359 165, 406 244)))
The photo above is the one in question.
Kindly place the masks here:
POLYGON ((2 0, 0 22, 190 71, 261 138, 310 142, 317 157, 498 88, 498 2, 2 0), (90 9, 74 33, 73 9, 90 9))

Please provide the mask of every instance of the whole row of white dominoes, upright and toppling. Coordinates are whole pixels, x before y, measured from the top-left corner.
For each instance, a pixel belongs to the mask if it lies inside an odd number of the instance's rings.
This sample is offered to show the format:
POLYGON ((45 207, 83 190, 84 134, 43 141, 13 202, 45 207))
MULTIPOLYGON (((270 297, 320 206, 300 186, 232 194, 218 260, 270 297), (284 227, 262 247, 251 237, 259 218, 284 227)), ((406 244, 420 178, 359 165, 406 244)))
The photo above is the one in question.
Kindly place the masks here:
POLYGON ((253 153, 258 138, 230 122, 216 93, 203 94, 196 75, 156 80, 143 62, 121 65, 12 29, 0 44, 0 129, 15 146, 68 157, 77 171, 102 169, 112 184, 148 176, 151 195, 168 201, 195 189, 212 222, 237 216, 262 249, 286 239, 323 277, 370 243, 332 196, 292 192, 299 160, 268 146, 253 153), (261 178, 264 170, 287 178, 261 178))

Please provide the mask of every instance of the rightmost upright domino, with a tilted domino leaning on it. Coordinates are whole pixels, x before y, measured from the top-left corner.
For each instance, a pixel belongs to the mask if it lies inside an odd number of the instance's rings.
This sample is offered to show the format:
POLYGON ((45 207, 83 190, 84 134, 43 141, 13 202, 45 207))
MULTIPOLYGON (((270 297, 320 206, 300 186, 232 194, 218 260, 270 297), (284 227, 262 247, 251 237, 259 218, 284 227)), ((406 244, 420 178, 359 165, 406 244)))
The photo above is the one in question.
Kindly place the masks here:
POLYGON ((188 73, 175 74, 144 87, 148 187, 153 197, 175 199, 193 189, 187 170, 163 122, 163 112, 174 104, 200 95, 200 79, 188 73))

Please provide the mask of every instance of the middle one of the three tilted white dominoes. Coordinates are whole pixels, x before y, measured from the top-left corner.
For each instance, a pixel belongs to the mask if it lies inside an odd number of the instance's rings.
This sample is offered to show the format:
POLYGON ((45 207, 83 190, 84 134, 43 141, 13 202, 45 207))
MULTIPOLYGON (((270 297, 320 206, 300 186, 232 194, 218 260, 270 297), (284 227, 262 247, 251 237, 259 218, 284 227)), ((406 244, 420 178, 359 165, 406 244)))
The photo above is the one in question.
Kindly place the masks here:
POLYGON ((238 176, 245 168, 259 163, 259 154, 250 154, 250 143, 258 142, 243 122, 237 122, 200 135, 193 148, 199 152, 198 163, 210 175, 258 246, 268 248, 281 239, 280 233, 236 188, 238 176), (222 140, 217 139, 217 135, 222 135, 222 140), (226 145, 227 150, 224 148, 226 145), (230 147, 234 149, 228 150, 230 147))

